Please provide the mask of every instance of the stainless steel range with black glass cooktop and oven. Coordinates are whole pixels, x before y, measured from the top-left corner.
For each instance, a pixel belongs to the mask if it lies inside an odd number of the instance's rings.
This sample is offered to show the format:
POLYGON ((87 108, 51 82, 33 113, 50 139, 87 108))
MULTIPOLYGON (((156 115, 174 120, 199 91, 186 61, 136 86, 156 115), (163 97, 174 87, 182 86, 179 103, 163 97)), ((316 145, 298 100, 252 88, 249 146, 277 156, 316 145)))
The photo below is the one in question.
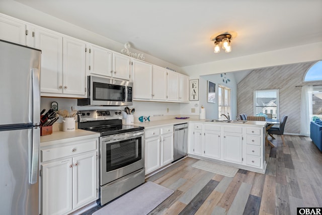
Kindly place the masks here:
POLYGON ((86 110, 78 128, 101 134, 101 205, 144 183, 144 127, 122 125, 119 110, 86 110))

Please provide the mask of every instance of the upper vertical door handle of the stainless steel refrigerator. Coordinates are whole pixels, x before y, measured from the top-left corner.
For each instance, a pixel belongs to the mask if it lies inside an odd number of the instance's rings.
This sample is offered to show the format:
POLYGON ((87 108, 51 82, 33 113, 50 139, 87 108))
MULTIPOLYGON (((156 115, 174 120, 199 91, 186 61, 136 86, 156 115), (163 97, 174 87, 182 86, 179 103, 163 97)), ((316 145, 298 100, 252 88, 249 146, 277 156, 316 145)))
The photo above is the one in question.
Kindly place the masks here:
POLYGON ((32 68, 33 123, 40 125, 40 81, 39 69, 32 68))

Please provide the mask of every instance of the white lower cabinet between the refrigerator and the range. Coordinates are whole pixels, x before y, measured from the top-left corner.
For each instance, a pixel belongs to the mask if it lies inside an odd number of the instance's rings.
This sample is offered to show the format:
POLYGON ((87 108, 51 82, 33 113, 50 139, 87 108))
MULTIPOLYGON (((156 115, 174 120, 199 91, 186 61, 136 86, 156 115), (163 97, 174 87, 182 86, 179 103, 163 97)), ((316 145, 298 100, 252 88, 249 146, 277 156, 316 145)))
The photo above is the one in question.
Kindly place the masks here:
POLYGON ((98 199, 98 138, 40 150, 42 214, 68 214, 98 199))

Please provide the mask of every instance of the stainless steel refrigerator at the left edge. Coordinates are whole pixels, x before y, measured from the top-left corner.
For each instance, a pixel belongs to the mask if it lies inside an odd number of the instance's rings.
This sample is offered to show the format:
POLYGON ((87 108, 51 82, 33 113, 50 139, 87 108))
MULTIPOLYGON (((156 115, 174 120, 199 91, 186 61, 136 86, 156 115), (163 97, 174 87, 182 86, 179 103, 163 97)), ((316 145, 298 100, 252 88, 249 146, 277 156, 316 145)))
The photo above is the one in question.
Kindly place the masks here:
POLYGON ((39 214, 40 58, 0 40, 0 214, 39 214))

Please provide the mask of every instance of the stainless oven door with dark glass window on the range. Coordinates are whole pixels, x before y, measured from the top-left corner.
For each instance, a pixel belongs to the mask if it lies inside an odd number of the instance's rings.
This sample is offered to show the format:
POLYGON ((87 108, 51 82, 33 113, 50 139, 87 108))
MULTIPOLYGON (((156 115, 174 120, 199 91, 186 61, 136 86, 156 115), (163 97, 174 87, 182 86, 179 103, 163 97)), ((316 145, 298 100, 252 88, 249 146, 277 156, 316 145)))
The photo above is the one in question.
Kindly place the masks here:
POLYGON ((144 168, 143 131, 101 137, 101 186, 144 168))

